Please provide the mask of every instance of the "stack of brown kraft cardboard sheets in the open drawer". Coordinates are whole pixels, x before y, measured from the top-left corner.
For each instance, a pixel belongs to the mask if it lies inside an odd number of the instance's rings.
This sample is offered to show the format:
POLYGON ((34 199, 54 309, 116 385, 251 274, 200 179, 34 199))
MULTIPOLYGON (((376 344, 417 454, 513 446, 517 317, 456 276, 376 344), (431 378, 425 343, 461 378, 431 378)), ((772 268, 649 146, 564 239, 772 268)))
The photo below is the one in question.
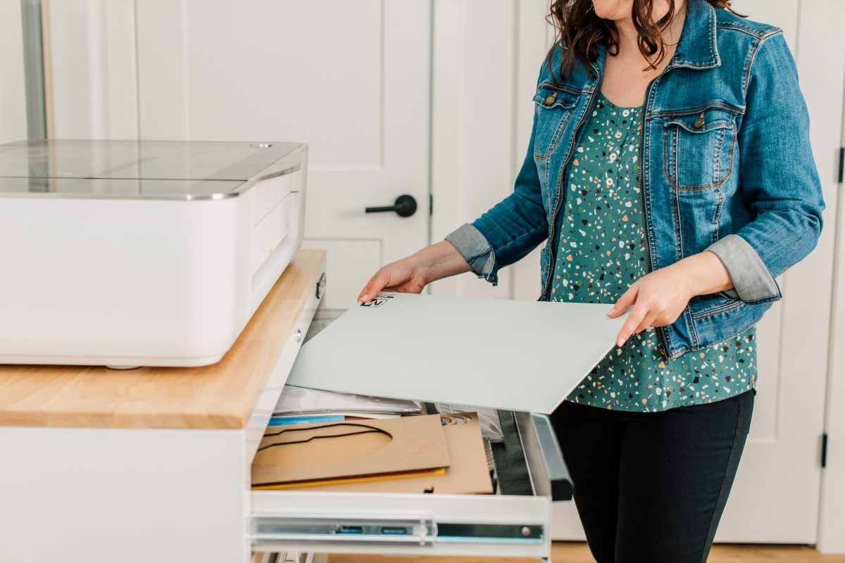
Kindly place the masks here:
POLYGON ((254 489, 492 493, 477 414, 277 425, 253 462, 254 489))

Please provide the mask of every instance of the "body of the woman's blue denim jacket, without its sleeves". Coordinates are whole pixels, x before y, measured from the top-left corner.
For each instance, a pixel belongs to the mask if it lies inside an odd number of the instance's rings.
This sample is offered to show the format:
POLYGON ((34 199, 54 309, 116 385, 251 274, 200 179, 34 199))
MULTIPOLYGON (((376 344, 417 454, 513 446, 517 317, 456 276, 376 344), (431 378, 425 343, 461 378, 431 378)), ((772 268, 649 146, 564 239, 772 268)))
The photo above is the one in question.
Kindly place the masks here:
MULTIPOLYGON (((684 38, 647 89, 643 106, 639 154, 647 271, 703 252, 754 219, 739 192, 737 133, 746 112, 748 61, 777 29, 702 2, 690 3, 684 26, 684 38)), ((561 81, 548 69, 559 63, 553 51, 538 82, 533 160, 550 241, 541 255, 543 300, 551 298, 561 210, 569 197, 559 186, 587 133, 605 61, 600 50, 591 68, 575 68, 561 81)), ((697 296, 678 322, 657 330, 662 355, 720 344, 753 326, 774 299, 749 303, 726 293, 697 296)))

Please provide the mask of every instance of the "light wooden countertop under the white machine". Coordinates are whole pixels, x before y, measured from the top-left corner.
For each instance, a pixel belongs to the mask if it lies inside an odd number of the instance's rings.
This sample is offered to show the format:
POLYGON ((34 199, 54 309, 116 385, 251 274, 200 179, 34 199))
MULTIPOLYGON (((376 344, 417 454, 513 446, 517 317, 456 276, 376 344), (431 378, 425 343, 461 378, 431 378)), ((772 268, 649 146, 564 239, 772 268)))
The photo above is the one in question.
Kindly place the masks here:
POLYGON ((0 425, 243 428, 314 290, 325 251, 301 250, 223 360, 113 371, 0 366, 0 425))

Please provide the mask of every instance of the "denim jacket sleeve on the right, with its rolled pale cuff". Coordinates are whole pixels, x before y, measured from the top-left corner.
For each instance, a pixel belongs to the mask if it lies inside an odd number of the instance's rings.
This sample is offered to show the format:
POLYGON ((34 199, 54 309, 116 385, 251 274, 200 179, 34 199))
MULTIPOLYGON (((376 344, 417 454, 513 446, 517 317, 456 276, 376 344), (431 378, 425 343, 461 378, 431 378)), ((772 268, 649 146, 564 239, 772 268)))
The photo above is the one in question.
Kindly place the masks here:
POLYGON ((747 77, 738 132, 739 189, 753 219, 707 250, 739 299, 777 300, 775 279, 815 248, 825 207, 810 147, 810 116, 783 34, 766 36, 747 77))

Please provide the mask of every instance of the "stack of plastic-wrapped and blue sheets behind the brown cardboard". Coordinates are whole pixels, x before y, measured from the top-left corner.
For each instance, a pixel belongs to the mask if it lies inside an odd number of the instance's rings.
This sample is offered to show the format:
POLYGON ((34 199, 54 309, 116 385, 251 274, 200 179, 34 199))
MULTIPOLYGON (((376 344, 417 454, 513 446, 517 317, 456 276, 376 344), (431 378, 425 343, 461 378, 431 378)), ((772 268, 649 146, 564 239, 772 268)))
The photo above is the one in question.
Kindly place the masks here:
POLYGON ((422 412, 423 406, 416 401, 319 391, 286 385, 281 392, 279 402, 276 403, 270 425, 395 419, 402 415, 422 412))

